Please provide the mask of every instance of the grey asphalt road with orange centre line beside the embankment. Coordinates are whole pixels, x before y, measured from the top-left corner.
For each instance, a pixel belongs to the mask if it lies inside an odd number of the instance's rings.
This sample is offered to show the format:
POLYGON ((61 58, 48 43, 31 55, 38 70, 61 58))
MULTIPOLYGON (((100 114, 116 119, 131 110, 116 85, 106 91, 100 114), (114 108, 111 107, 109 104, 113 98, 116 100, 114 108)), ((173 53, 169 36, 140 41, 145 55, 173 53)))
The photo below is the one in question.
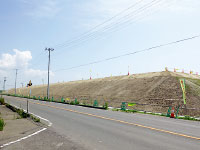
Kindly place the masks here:
MULTIPOLYGON (((4 96, 26 109, 26 99, 4 96)), ((29 100, 29 111, 88 150, 198 150, 200 122, 29 100)), ((44 148, 45 149, 45 148, 44 148)))

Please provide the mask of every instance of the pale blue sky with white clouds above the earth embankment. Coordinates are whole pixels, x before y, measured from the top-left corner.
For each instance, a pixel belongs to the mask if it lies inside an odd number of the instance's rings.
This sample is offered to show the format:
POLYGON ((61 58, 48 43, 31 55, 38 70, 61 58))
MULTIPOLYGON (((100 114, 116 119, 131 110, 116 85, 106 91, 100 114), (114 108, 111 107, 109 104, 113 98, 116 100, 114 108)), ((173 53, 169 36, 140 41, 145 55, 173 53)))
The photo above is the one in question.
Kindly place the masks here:
POLYGON ((62 70, 200 34, 198 0, 2 0, 0 1, 0 89, 30 79, 47 83, 163 71, 165 67, 200 72, 200 39, 99 64, 62 70), (134 6, 134 7, 133 7, 134 6), (111 21, 102 22, 119 14, 111 21), (92 28, 99 25, 91 31, 92 28), (81 37, 89 32, 89 36, 81 37), (77 39, 62 47, 58 44, 77 39), (61 71, 56 71, 60 70, 61 71))

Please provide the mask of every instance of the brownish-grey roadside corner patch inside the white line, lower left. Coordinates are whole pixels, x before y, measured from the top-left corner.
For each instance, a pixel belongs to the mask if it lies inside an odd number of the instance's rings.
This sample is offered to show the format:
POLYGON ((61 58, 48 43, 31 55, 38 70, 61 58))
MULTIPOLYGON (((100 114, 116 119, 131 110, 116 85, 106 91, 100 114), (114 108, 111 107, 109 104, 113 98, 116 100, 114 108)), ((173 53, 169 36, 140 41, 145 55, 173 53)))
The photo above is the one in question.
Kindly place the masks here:
POLYGON ((17 113, 4 105, 0 105, 0 115, 6 123, 4 130, 0 131, 0 145, 25 137, 42 129, 43 126, 29 119, 19 119, 17 113))

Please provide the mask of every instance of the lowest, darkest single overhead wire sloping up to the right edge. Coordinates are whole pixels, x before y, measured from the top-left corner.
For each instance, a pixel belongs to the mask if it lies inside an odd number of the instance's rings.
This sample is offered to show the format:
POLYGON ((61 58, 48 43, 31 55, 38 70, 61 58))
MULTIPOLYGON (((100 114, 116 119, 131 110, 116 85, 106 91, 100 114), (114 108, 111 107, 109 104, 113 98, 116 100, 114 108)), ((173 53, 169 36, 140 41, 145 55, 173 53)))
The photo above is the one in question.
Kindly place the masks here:
POLYGON ((125 57, 125 56, 128 56, 128 55, 134 55, 134 54, 137 54, 137 53, 141 53, 141 52, 145 52, 145 51, 150 51, 150 50, 157 49, 157 48, 160 48, 160 47, 165 47, 165 46, 168 46, 168 45, 181 43, 181 42, 192 40, 192 39, 199 38, 199 37, 200 37, 200 34, 196 35, 196 36, 192 36, 192 37, 180 39, 180 40, 177 40, 177 41, 169 42, 169 43, 160 44, 160 45, 153 46, 153 47, 150 47, 150 48, 146 48, 146 49, 143 49, 143 50, 139 50, 139 51, 135 51, 135 52, 131 52, 131 53, 126 53, 126 54, 123 54, 123 55, 114 56, 114 57, 106 58, 106 59, 103 59, 103 60, 94 61, 94 62, 87 63, 87 64, 82 64, 82 65, 78 65, 78 66, 74 66, 74 67, 70 67, 70 68, 66 68, 66 69, 55 70, 54 72, 64 71, 64 70, 71 70, 71 69, 75 69, 75 68, 89 66, 89 65, 92 65, 92 64, 97 64, 97 63, 109 61, 109 60, 112 60, 112 59, 117 59, 117 58, 120 58, 120 57, 125 57))

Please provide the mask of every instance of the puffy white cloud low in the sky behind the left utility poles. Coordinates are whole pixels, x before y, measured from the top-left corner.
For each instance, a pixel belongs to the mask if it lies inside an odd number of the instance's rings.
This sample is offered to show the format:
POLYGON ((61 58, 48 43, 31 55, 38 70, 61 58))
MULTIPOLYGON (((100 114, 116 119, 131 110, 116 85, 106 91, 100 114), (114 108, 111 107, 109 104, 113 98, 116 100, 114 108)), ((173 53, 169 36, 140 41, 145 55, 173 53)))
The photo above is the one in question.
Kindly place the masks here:
MULTIPOLYGON (((34 83, 41 84, 41 78, 47 77, 47 71, 40 69, 32 69, 29 67, 29 63, 32 60, 30 51, 13 50, 14 54, 4 53, 0 57, 0 78, 7 77, 8 84, 13 84, 15 80, 15 69, 18 70, 17 85, 20 86, 21 82, 28 82, 30 79, 34 83)), ((50 76, 54 76, 54 73, 50 71, 50 76)), ((0 79, 0 80, 1 80, 0 79)))

